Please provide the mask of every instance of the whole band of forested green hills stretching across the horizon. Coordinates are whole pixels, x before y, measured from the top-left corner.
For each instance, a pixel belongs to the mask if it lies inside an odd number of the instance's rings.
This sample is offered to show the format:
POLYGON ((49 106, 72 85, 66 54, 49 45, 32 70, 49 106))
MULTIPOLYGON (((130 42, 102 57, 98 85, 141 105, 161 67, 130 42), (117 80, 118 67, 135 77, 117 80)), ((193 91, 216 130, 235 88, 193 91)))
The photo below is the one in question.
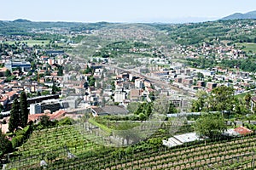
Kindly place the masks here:
POLYGON ((66 31, 102 30, 105 32, 114 28, 128 32, 125 37, 132 35, 129 30, 140 30, 146 31, 142 32, 143 34, 157 37, 161 42, 172 40, 172 42, 181 45, 195 45, 202 42, 211 43, 222 40, 228 42, 256 42, 255 26, 256 20, 216 20, 187 24, 33 22, 30 20, 15 20, 0 21, 0 34, 27 35, 34 30, 52 31, 53 28, 65 28, 66 31), (148 34, 148 31, 150 34, 148 34), (159 32, 164 34, 159 34, 159 32))

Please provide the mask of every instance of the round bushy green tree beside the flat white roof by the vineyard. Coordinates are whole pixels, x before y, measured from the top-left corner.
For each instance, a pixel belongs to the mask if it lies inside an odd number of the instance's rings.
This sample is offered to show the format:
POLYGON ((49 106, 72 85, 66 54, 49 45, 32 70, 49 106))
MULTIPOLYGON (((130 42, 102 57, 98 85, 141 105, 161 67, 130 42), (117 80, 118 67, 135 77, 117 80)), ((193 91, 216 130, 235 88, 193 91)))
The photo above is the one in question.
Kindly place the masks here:
POLYGON ((194 129, 200 136, 216 138, 227 129, 227 126, 224 117, 219 113, 209 113, 196 120, 194 129))

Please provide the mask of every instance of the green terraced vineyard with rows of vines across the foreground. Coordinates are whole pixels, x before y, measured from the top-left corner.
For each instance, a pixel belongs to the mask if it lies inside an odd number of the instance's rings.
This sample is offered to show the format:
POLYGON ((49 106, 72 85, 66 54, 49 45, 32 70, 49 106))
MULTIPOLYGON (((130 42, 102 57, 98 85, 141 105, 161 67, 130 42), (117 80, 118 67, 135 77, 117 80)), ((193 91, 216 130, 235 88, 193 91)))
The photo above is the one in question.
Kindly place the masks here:
POLYGON ((256 136, 196 141, 168 148, 159 139, 113 147, 84 124, 32 133, 5 169, 254 169, 256 136))

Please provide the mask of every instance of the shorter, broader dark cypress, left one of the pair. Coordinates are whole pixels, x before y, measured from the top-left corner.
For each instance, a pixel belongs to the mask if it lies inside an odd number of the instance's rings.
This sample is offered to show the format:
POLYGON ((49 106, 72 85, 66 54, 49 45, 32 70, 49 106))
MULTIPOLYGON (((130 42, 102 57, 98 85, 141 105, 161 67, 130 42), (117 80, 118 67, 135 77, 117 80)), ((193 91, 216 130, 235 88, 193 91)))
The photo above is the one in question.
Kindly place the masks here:
POLYGON ((10 111, 9 118, 9 131, 14 132, 17 127, 20 125, 20 104, 18 99, 15 99, 10 111))

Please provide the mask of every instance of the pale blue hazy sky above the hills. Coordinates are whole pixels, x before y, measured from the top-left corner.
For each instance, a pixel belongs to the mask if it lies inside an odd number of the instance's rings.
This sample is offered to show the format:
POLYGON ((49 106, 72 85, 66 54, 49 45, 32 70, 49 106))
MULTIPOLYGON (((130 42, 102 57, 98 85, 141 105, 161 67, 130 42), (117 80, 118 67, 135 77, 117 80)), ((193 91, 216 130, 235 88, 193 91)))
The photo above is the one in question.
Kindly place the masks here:
POLYGON ((172 22, 256 10, 255 0, 1 0, 0 20, 172 22))

